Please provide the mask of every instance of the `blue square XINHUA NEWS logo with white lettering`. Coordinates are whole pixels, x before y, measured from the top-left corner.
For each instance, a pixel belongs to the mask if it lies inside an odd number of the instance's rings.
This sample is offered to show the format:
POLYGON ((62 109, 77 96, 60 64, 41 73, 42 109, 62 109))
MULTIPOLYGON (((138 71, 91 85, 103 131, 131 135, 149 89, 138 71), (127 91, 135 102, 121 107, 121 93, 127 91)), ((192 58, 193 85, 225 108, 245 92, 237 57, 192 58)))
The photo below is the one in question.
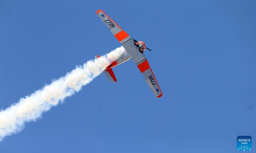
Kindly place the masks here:
POLYGON ((251 136, 238 136, 236 138, 236 149, 238 151, 251 151, 252 150, 252 137, 251 136))

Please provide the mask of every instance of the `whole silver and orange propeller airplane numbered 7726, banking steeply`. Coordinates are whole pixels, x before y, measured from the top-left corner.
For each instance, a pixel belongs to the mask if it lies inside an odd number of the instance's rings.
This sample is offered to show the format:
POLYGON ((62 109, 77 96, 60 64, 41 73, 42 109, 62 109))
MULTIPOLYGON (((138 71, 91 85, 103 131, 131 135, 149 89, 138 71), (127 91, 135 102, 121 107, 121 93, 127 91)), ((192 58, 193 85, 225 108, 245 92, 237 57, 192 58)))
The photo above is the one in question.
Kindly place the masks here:
MULTIPOLYGON (((110 32, 116 37, 116 39, 123 45, 125 52, 119 59, 110 63, 106 69, 105 74, 107 78, 112 82, 116 83, 116 77, 112 70, 113 67, 120 65, 130 59, 132 59, 137 67, 140 69, 141 74, 145 77, 151 90, 154 92, 157 98, 163 96, 163 93, 156 81, 156 77, 153 74, 152 69, 149 66, 148 60, 143 52, 149 48, 146 47, 145 43, 142 41, 137 41, 132 39, 132 37, 127 34, 119 25, 116 24, 109 16, 102 10, 96 12, 98 17, 104 22, 109 28, 110 32)), ((99 55, 95 56, 95 59, 100 58, 99 55)), ((103 71, 104 72, 104 71, 103 71)))

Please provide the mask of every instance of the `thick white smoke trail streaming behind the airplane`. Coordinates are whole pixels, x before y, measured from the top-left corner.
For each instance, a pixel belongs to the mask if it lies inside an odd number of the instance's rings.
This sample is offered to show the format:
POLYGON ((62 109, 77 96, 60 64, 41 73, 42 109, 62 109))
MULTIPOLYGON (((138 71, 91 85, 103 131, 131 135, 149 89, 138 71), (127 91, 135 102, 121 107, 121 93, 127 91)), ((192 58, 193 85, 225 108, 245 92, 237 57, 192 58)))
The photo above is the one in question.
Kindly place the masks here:
POLYGON ((115 61, 124 51, 122 46, 96 60, 84 63, 83 66, 76 66, 76 69, 67 73, 65 77, 53 81, 30 96, 20 98, 18 103, 2 110, 0 112, 0 141, 7 135, 20 132, 26 122, 36 121, 43 112, 80 91, 82 86, 100 75, 110 62, 115 61))

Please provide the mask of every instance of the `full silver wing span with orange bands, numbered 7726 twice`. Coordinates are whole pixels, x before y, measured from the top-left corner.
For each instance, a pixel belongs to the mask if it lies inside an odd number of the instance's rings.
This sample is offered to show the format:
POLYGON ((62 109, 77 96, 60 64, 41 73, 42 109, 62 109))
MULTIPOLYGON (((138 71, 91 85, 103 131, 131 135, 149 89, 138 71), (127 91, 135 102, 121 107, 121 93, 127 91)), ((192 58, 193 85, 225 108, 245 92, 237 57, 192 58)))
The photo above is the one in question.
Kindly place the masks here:
POLYGON ((152 69, 149 66, 148 60, 143 53, 140 53, 139 48, 134 45, 134 40, 129 36, 120 26, 118 26, 106 13, 102 10, 96 12, 99 18, 109 28, 110 32, 116 37, 116 39, 124 46, 125 50, 129 53, 132 60, 140 69, 140 72, 145 77, 151 90, 154 92, 157 98, 163 95, 157 81, 153 74, 152 69))

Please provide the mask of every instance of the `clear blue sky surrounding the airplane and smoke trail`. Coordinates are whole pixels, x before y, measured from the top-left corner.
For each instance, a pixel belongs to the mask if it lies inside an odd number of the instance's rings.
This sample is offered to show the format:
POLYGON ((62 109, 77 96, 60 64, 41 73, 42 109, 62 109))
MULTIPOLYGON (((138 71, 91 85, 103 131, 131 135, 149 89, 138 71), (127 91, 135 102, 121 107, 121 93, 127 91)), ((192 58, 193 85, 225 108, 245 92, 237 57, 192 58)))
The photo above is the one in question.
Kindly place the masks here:
POLYGON ((106 10, 145 51, 163 96, 132 60, 0 142, 0 152, 236 152, 256 149, 256 2, 0 1, 0 108, 120 47, 106 10))

